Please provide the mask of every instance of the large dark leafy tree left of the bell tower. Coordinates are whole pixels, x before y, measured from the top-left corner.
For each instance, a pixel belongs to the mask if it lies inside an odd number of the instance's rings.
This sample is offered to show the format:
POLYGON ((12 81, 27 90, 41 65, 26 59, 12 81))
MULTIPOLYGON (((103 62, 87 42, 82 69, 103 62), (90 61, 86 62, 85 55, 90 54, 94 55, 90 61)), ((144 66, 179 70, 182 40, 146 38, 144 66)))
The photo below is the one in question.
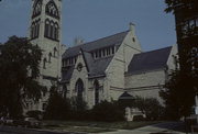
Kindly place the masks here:
POLYGON ((1 46, 0 113, 19 118, 25 99, 41 98, 46 89, 36 81, 41 57, 40 47, 25 37, 12 36, 1 46))

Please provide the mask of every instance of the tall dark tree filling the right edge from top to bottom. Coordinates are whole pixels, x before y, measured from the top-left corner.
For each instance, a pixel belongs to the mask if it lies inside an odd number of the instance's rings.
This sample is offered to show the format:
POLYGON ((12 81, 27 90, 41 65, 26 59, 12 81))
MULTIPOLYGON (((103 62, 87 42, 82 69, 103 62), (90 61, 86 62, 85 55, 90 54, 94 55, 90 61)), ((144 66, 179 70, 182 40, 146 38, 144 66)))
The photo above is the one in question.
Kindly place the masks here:
POLYGON ((178 56, 176 69, 169 75, 161 97, 172 119, 190 114, 198 91, 198 13, 197 0, 165 0, 165 12, 173 12, 176 20, 178 56), (179 63, 179 68, 178 68, 179 63))

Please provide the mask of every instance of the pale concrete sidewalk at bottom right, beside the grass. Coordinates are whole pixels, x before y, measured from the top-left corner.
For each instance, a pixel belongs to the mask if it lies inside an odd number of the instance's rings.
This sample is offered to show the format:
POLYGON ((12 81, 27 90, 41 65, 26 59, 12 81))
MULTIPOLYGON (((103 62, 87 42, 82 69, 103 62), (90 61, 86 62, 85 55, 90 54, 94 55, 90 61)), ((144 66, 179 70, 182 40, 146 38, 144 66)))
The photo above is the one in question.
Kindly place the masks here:
POLYGON ((175 123, 161 123, 156 125, 148 125, 134 130, 118 130, 116 132, 106 132, 101 134, 186 134, 184 132, 174 131, 175 123))

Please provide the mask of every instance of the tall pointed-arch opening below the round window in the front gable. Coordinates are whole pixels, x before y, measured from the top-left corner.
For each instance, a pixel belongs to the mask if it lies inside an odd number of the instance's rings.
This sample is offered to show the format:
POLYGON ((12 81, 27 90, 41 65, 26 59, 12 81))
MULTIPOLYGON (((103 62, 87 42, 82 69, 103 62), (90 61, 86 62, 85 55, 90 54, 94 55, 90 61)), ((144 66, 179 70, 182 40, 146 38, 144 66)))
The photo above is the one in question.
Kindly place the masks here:
POLYGON ((77 100, 82 101, 84 98, 84 82, 81 79, 78 79, 76 82, 77 100))

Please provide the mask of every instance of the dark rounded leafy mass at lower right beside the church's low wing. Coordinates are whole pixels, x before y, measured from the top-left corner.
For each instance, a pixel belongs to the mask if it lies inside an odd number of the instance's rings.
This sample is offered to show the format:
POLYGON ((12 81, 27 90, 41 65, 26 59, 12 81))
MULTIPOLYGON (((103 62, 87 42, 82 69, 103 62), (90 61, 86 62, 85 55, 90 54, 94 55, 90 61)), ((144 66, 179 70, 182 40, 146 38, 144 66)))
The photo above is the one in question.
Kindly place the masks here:
POLYGON ((165 90, 160 92, 166 104, 166 113, 170 119, 177 120, 190 114, 197 92, 198 78, 188 72, 176 69, 170 74, 165 90))

